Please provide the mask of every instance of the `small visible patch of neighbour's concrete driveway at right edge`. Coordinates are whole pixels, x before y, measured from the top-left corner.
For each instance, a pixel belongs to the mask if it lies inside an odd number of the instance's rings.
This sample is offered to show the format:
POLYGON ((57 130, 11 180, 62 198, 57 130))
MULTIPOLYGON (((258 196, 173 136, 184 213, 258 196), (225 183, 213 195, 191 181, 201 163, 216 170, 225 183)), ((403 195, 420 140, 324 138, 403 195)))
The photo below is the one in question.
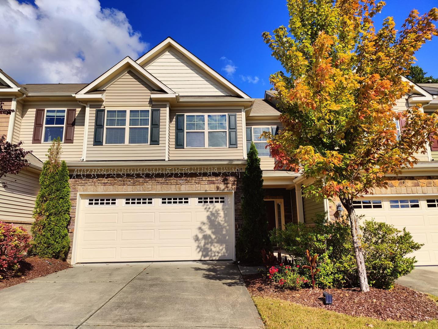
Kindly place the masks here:
POLYGON ((405 287, 438 296, 438 266, 417 266, 396 280, 405 287))

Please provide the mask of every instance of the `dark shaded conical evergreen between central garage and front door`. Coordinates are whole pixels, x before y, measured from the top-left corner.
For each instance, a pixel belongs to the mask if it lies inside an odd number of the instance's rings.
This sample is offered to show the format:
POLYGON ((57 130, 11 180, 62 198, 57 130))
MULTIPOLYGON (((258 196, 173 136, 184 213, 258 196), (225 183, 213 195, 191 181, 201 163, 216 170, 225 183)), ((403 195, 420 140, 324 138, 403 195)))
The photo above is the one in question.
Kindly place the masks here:
POLYGON ((260 158, 254 143, 251 143, 243 176, 243 228, 236 243, 237 259, 244 263, 260 263, 261 250, 271 249, 264 196, 260 158))

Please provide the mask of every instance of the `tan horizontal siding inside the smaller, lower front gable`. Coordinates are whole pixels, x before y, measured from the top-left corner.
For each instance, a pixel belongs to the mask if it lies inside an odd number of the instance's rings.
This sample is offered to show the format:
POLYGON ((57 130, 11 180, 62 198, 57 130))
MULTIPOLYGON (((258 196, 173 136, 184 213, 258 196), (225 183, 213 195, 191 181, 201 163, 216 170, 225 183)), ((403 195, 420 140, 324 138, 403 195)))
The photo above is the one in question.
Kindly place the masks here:
POLYGON ((122 74, 116 81, 105 88, 105 107, 148 107, 151 102, 151 90, 132 71, 122 74))

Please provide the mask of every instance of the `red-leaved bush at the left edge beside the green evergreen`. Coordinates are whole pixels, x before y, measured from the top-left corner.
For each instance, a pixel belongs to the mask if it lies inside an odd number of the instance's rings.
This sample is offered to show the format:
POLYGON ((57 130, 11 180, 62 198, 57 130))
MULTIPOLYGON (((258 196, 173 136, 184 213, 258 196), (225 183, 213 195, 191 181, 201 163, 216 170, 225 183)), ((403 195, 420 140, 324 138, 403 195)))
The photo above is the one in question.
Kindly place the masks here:
POLYGON ((22 227, 0 222, 0 279, 17 273, 31 236, 22 227))

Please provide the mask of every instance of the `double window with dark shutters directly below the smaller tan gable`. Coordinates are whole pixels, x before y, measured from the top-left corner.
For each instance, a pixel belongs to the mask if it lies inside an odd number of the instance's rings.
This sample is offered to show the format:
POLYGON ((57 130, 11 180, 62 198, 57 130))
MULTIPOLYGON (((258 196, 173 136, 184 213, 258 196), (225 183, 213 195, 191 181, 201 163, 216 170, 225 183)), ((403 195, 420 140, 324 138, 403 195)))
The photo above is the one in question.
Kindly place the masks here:
POLYGON ((105 144, 148 144, 149 121, 149 110, 106 110, 105 144))

